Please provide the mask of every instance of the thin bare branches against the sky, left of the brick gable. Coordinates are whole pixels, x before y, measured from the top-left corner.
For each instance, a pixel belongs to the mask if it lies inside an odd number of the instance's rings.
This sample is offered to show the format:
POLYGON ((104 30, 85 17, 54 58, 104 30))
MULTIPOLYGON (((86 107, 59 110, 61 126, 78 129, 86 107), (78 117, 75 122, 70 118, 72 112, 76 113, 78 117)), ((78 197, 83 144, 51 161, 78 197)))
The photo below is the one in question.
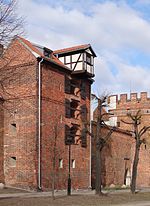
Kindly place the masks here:
POLYGON ((17 0, 0 0, 0 44, 6 46, 24 32, 24 19, 17 14, 17 0))

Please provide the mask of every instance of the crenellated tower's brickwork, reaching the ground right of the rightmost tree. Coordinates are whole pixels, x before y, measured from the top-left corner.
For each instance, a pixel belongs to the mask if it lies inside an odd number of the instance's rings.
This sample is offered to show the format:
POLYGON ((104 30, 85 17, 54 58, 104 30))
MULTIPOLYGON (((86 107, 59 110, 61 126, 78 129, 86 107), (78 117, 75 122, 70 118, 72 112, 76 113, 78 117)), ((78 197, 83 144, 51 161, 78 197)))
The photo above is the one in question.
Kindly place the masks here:
MULTIPOLYGON (((120 128, 132 130, 130 125, 123 123, 121 120, 130 121, 127 117, 127 113, 135 113, 141 110, 142 121, 139 128, 143 126, 149 126, 150 122, 150 98, 146 92, 141 92, 138 96, 137 93, 131 93, 130 97, 127 94, 121 94, 120 98, 116 97, 116 108, 111 109, 114 116, 117 117, 117 121, 120 122, 120 128)), ((145 133, 143 138, 149 139, 149 132, 145 133)), ((134 145, 132 146, 132 164, 134 157, 134 145)), ((149 145, 141 146, 139 164, 138 164, 138 176, 137 176, 137 186, 150 186, 150 148, 149 145)))

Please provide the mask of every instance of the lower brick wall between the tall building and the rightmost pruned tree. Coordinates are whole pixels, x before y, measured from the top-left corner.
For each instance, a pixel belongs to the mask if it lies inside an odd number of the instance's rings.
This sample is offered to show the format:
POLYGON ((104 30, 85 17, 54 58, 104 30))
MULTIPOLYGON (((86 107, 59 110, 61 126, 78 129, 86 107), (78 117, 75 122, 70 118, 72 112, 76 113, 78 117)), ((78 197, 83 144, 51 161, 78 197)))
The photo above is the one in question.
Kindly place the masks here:
MULTIPOLYGON (((93 134, 96 134, 96 124, 92 124, 93 134)), ((109 132, 102 128, 102 136, 109 132)), ((133 139, 128 133, 117 129, 102 150, 102 185, 111 184, 122 186, 125 184, 126 171, 131 173, 131 145, 133 139)), ((96 137, 92 138, 92 187, 95 188, 96 166, 96 137)))

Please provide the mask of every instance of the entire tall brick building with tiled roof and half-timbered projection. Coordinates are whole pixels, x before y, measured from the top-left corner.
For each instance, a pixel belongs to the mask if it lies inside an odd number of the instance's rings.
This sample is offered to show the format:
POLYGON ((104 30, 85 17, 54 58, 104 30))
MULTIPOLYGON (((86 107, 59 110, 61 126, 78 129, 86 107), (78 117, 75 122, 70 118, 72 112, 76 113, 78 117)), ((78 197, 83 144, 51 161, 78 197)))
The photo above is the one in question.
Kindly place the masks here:
POLYGON ((0 59, 0 181, 50 190, 55 173, 55 188, 66 189, 70 172, 72 188, 90 186, 95 56, 89 44, 53 52, 21 37, 11 42, 0 59))

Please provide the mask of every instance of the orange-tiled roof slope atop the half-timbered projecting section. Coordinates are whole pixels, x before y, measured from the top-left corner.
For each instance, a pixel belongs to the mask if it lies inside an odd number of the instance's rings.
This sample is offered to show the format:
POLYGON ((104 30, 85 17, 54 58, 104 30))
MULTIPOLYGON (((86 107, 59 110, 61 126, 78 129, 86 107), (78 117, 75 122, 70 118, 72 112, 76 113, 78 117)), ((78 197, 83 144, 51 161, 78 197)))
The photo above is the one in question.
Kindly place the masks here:
POLYGON ((68 53, 68 52, 78 51, 78 50, 82 50, 82 49, 87 49, 89 47, 91 47, 90 44, 83 44, 83 45, 79 45, 79 46, 55 50, 54 54, 68 53))

